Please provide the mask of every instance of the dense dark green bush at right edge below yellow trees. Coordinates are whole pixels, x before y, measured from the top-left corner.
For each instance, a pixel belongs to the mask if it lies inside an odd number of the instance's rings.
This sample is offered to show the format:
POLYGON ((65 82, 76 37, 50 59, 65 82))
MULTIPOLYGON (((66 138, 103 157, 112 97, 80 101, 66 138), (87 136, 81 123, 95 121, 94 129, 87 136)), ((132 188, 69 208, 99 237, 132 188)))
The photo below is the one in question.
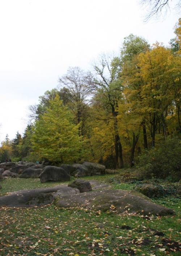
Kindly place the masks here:
POLYGON ((139 179, 181 178, 181 141, 168 137, 163 143, 139 156, 137 175, 139 179))

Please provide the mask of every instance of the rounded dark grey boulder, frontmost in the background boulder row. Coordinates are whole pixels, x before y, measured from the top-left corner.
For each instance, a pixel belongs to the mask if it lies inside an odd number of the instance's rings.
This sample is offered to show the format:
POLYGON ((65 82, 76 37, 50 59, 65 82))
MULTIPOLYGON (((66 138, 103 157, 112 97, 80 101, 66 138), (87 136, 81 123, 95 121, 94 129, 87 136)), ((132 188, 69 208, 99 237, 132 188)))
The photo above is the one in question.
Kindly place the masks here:
POLYGON ((70 181, 70 175, 66 170, 56 166, 46 166, 40 174, 40 181, 70 181))

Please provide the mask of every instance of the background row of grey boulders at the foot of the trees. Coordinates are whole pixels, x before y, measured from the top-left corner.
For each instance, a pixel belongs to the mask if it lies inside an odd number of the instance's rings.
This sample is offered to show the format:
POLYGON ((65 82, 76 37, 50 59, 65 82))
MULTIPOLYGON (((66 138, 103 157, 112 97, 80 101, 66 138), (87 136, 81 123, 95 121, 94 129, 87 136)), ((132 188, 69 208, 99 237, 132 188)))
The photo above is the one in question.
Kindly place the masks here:
POLYGON ((84 177, 92 175, 113 174, 115 170, 106 169, 104 165, 83 162, 83 164, 63 164, 45 166, 32 162, 8 162, 0 164, 0 179, 5 177, 40 178, 40 181, 69 181, 70 177, 84 177))

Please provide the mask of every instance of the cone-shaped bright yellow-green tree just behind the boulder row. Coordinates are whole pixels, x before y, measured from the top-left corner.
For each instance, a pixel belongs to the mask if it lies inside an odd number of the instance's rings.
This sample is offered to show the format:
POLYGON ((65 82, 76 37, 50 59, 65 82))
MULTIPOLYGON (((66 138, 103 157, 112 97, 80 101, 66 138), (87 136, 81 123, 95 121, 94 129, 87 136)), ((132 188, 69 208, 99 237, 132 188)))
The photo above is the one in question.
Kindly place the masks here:
POLYGON ((56 95, 49 101, 46 112, 35 122, 32 136, 33 150, 39 158, 54 163, 73 162, 81 154, 79 126, 73 124, 72 113, 56 95))

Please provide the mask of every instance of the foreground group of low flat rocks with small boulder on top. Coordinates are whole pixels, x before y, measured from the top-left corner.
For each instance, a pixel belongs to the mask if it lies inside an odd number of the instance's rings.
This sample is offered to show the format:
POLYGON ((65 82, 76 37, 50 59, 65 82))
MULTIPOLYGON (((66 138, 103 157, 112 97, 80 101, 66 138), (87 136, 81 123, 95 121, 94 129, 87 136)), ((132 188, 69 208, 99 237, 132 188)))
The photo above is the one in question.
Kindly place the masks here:
POLYGON ((118 214, 166 215, 172 209, 152 203, 144 195, 129 190, 113 190, 109 184, 76 179, 67 185, 21 190, 0 197, 0 206, 32 207, 54 204, 62 208, 114 211, 118 214))

